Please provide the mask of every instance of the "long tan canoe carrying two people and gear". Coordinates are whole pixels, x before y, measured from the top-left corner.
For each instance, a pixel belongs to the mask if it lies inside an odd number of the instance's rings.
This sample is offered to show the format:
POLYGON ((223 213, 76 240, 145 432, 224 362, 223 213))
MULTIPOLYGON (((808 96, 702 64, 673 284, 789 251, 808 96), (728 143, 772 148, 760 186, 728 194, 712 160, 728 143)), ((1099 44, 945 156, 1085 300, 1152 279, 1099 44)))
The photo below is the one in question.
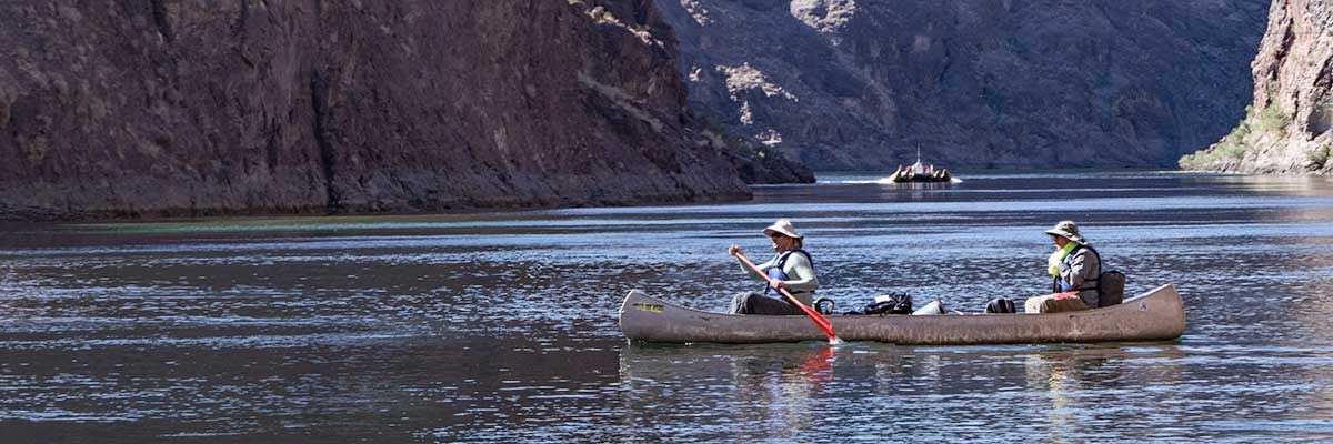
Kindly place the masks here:
MULTIPOLYGON (((1021 301, 1018 301, 1021 304, 1021 301)), ((1020 305, 1021 307, 1021 305, 1020 305)), ((1172 340, 1185 331, 1185 305, 1170 284, 1122 304, 1078 312, 1025 315, 832 315, 848 341, 966 345, 1172 340)), ((796 343, 822 340, 806 316, 710 313, 631 291, 620 331, 652 343, 796 343)))

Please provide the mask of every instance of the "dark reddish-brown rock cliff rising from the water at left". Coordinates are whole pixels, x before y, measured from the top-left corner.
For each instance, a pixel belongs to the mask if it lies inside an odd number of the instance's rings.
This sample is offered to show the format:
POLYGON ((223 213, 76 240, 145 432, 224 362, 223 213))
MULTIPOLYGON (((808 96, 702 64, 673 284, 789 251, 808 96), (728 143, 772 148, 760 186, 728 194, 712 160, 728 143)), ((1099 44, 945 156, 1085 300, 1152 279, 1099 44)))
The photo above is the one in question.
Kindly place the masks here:
POLYGON ((9 1, 0 40, 5 219, 749 193, 647 0, 9 1))

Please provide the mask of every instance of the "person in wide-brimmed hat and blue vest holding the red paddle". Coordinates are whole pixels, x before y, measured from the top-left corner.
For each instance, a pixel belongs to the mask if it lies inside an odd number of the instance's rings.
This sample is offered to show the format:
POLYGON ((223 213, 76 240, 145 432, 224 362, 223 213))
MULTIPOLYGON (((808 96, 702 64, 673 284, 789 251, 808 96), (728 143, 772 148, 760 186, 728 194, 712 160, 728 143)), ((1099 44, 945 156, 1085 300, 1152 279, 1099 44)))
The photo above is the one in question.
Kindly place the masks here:
MULTIPOLYGON (((810 305, 814 300, 814 289, 820 288, 820 279, 814 273, 814 260, 810 259, 810 253, 801 247, 805 244, 805 236, 796 232, 796 227, 792 227, 792 221, 786 219, 778 219, 768 228, 764 228, 764 235, 773 241, 773 249, 777 255, 773 256, 766 263, 758 264, 758 269, 765 271, 766 276, 760 276, 766 279, 770 285, 764 288, 764 292, 742 292, 732 299, 732 305, 728 313, 732 315, 802 315, 800 307, 788 301, 786 296, 778 292, 778 288, 786 288, 796 300, 801 304, 810 305)), ((732 244, 726 249, 728 255, 740 260, 741 249, 732 244)), ((753 273, 752 269, 741 264, 741 269, 746 273, 753 273)))

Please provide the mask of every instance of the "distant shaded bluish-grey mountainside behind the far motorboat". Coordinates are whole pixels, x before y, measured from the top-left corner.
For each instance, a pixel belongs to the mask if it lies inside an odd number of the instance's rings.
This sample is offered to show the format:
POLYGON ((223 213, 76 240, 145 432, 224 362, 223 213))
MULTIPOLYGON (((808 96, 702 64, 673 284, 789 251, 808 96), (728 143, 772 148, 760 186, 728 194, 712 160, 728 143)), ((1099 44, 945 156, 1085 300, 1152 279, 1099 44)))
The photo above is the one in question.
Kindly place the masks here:
POLYGON ((1174 165, 1241 117, 1268 0, 657 0, 696 109, 816 169, 1174 165))

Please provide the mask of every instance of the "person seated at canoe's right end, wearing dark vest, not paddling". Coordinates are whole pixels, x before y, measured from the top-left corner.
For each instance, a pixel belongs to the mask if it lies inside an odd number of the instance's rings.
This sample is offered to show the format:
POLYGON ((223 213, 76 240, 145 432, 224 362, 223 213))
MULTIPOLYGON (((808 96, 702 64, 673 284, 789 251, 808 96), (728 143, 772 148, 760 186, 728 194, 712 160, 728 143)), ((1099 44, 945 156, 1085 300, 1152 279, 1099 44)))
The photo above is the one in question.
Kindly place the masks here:
POLYGON ((1101 273, 1101 256, 1081 235, 1072 220, 1062 220, 1046 231, 1056 243, 1056 251, 1046 260, 1046 272, 1052 277, 1052 291, 1056 293, 1078 291, 1076 297, 1046 295, 1029 297, 1024 304, 1028 313, 1058 313, 1097 307, 1097 279, 1101 273))

